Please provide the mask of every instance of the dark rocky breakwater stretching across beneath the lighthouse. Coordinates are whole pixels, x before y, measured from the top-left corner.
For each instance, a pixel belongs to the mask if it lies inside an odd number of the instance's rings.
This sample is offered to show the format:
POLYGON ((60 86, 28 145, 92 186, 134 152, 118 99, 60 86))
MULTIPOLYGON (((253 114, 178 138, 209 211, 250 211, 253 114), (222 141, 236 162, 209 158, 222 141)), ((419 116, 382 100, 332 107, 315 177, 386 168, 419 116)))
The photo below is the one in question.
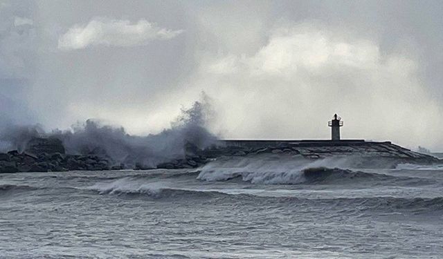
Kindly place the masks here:
POLYGON ((417 153, 390 142, 327 142, 327 141, 260 141, 220 140, 201 149, 186 144, 183 157, 161 162, 155 166, 117 163, 106 154, 66 154, 62 141, 56 138, 35 138, 28 142, 23 152, 0 153, 0 173, 46 171, 103 171, 121 169, 192 169, 217 157, 250 157, 256 155, 303 157, 316 160, 327 157, 359 157, 359 165, 384 166, 399 163, 441 164, 442 160, 431 155, 417 153))

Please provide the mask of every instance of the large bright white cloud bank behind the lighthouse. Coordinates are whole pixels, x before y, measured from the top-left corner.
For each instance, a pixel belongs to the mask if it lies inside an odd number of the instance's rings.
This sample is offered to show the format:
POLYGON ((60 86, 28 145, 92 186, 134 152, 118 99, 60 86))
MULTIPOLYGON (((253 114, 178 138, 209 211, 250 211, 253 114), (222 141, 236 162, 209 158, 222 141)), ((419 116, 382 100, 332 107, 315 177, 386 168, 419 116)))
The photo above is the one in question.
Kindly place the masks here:
POLYGON ((195 86, 217 97, 218 125, 230 138, 328 138, 325 122, 338 113, 343 137, 443 142, 442 108, 417 76, 417 61, 334 28, 275 30, 247 56, 209 53, 195 86))

